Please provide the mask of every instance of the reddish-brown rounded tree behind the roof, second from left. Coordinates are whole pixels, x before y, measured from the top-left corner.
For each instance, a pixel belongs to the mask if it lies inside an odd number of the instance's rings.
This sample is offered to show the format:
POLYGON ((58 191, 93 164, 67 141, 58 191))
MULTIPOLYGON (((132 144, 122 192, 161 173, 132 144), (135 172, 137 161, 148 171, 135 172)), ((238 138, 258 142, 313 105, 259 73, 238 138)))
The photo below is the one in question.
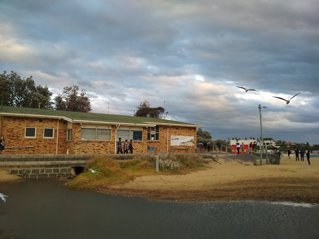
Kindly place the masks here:
POLYGON ((73 112, 91 112, 90 99, 85 96, 84 89, 78 92, 78 86, 65 86, 62 94, 58 94, 55 98, 56 110, 73 111, 73 112))

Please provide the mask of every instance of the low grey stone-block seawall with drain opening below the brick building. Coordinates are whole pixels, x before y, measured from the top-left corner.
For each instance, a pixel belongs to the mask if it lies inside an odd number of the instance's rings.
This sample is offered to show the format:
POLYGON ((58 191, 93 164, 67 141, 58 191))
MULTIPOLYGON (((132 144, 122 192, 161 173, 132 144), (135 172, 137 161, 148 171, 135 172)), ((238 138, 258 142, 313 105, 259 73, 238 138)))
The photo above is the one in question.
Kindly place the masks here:
MULTIPOLYGON (((57 178, 76 175, 83 170, 87 161, 100 154, 66 155, 0 155, 0 170, 24 178, 57 178)), ((103 155, 115 160, 131 159, 136 155, 103 155)))

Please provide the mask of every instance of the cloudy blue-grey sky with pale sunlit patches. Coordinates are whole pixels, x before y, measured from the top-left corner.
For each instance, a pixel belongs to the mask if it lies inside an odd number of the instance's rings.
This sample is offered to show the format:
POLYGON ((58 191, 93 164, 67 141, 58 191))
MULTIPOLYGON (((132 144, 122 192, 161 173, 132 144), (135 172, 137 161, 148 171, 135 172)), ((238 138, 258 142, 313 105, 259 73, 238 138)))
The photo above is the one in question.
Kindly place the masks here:
POLYGON ((1 0, 0 71, 95 113, 147 100, 212 139, 319 144, 318 0, 1 0), (256 91, 247 93, 235 86, 256 91), (273 98, 292 99, 290 104, 273 98), (109 109, 106 109, 108 107, 109 109))

